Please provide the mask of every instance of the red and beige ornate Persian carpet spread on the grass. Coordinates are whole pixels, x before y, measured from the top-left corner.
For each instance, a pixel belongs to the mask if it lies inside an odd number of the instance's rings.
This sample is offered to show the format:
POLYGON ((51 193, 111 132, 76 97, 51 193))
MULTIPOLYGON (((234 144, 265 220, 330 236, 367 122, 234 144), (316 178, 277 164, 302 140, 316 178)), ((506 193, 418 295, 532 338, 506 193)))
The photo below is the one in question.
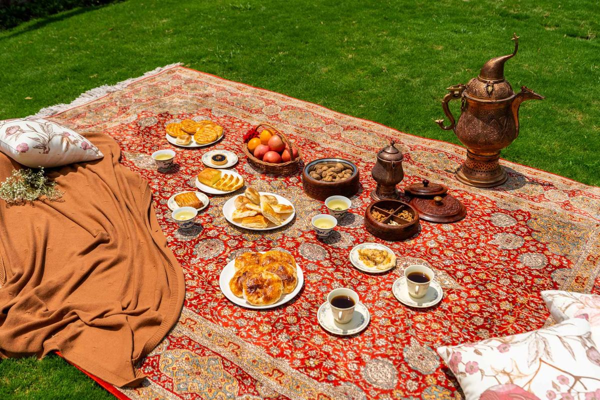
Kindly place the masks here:
MULTIPOLYGON (((53 116, 74 130, 110 134, 124 151, 122 163, 148 179, 158 219, 186 279, 186 302, 176 328, 140 368, 149 379, 118 389, 133 399, 449 399, 457 383, 434 348, 538 329, 548 311, 539 292, 565 289, 600 293, 600 188, 503 161, 509 179, 492 190, 453 178, 465 150, 399 133, 315 104, 230 82, 184 67, 169 68, 126 88, 53 116), (287 227, 256 234, 227 223, 212 196, 191 232, 176 230, 167 199, 193 188, 206 149, 173 148, 178 167, 158 173, 150 154, 172 148, 164 126, 184 118, 212 119, 226 136, 209 149, 239 155, 235 169, 260 190, 286 196, 296 207, 287 227), (302 192, 299 175, 264 176, 248 165, 241 137, 268 121, 289 133, 304 160, 338 155, 361 170, 352 215, 320 242, 310 218, 322 202, 302 192), (406 178, 448 185, 467 207, 455 224, 421 222, 419 234, 393 242, 398 266, 368 275, 352 267, 353 245, 376 241, 363 227, 374 188, 376 152, 401 143, 406 178), (305 286, 292 302, 271 311, 239 308, 218 287, 223 266, 240 252, 285 249, 304 270, 305 286), (415 261, 437 271, 445 289, 433 309, 410 309, 391 293, 404 266, 415 261), (359 335, 337 337, 316 321, 319 305, 336 287, 352 287, 371 312, 359 335)), ((432 122, 433 123, 433 122, 432 122)))

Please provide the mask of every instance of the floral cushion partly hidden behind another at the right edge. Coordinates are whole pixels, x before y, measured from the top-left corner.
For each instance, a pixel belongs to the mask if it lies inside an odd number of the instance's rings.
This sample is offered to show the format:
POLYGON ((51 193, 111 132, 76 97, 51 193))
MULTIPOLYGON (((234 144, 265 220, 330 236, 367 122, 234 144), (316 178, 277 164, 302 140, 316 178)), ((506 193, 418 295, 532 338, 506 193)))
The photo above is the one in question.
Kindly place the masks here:
POLYGON ((600 341, 600 296, 563 290, 544 290, 542 299, 557 322, 583 318, 592 327, 594 341, 600 341))

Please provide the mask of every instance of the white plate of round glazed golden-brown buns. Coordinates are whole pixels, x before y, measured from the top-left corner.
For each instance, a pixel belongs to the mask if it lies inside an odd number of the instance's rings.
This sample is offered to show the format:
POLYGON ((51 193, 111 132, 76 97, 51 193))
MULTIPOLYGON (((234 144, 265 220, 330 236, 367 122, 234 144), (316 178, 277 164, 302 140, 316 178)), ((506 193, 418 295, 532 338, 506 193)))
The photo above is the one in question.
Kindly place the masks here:
POLYGON ((246 308, 273 308, 289 302, 302 288, 304 275, 286 251, 245 252, 229 261, 219 276, 221 291, 246 308))

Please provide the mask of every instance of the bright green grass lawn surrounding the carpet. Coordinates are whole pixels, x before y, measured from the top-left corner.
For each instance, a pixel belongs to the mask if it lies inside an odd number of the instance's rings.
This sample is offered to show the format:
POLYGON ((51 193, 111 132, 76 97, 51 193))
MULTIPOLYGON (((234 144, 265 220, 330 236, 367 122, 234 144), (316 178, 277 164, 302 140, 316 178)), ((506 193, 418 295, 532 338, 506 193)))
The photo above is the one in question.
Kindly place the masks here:
MULTIPOLYGON (((510 53, 517 32, 506 77, 546 100, 523 104, 520 137, 503 158, 600 185, 598 15, 600 2, 583 0, 128 0, 0 32, 0 118, 181 61, 458 143, 434 124, 445 88, 510 53)), ((58 357, 0 363, 0 398, 70 391, 109 396, 58 357)))

